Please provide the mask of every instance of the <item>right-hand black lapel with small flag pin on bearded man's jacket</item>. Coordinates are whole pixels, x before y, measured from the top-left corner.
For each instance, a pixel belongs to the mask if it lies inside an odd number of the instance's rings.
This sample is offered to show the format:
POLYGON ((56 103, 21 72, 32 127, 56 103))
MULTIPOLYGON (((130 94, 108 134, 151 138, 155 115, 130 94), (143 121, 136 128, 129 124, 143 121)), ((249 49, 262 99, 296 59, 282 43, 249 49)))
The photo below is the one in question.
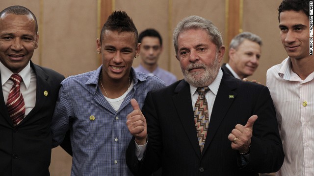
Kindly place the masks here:
POLYGON ((217 129, 219 128, 220 123, 225 118, 227 111, 236 98, 236 92, 234 89, 237 88, 237 85, 233 79, 234 78, 224 72, 216 95, 214 106, 212 108, 209 129, 207 131, 203 153, 205 153, 209 147, 209 144, 211 143, 217 129))

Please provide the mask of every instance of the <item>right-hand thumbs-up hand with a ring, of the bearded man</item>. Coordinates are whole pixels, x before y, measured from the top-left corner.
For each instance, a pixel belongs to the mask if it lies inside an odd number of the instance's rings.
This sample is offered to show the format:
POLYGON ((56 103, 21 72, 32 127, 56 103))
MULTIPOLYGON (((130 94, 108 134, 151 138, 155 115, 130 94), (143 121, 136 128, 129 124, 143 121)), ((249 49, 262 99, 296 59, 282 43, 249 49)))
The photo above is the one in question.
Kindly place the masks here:
POLYGON ((257 118, 257 115, 252 115, 244 126, 240 124, 235 126, 235 129, 228 135, 232 149, 237 150, 240 153, 249 151, 253 135, 253 125, 257 118))

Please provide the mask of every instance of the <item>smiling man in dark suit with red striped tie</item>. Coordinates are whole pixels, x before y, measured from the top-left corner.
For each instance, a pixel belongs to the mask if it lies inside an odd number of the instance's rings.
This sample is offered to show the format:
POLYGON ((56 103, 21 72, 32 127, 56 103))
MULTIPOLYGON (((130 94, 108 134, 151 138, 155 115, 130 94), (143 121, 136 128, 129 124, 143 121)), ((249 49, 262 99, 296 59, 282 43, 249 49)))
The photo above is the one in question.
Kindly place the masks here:
POLYGON ((0 12, 1 176, 50 175, 50 124, 64 76, 30 61, 37 29, 36 17, 23 6, 0 12))

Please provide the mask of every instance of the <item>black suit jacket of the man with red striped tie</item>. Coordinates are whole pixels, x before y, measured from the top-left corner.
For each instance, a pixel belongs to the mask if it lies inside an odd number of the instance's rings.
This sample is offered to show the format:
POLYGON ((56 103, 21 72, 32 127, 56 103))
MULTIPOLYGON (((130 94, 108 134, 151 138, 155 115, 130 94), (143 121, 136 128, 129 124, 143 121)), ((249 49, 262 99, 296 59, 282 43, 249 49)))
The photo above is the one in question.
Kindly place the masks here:
MULTIPOLYGON (((36 73, 36 104, 13 126, 0 87, 0 175, 49 176, 52 136, 50 124, 64 76, 30 63, 36 73), (47 91, 48 95, 44 95, 47 91)), ((0 76, 1 79, 1 76, 0 76)), ((1 81, 0 81, 1 82, 1 81)))

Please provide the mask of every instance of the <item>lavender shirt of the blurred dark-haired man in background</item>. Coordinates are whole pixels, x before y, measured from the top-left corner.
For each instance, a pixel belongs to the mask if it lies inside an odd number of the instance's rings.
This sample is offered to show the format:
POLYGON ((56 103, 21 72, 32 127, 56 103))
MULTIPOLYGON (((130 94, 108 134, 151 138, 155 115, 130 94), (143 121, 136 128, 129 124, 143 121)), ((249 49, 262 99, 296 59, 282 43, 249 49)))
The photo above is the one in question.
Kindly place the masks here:
POLYGON ((157 68, 153 72, 148 71, 142 65, 139 65, 138 67, 135 67, 134 69, 136 72, 142 72, 148 75, 157 76, 158 78, 160 78, 162 81, 166 83, 166 86, 169 86, 172 83, 177 81, 177 77, 174 74, 160 68, 159 66, 157 66, 157 68))

